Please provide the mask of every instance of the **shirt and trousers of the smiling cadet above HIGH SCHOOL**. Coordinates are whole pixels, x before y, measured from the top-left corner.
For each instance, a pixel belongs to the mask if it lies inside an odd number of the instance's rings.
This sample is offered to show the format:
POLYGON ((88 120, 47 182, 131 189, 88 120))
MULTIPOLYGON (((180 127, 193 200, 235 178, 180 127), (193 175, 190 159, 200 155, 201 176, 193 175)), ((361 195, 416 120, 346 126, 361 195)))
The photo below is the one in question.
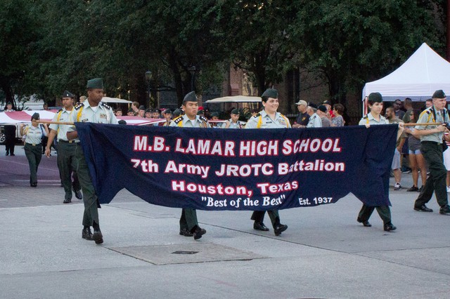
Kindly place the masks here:
MULTIPOLYGON (((275 118, 271 119, 269 114, 264 110, 259 112, 253 117, 250 117, 245 128, 290 128, 289 120, 281 113, 276 112, 275 118)), ((266 211, 254 211, 252 213, 251 220, 256 222, 264 222, 264 214, 266 211)), ((280 224, 280 215, 278 210, 267 211, 269 214, 272 226, 275 228, 276 225, 280 224)))

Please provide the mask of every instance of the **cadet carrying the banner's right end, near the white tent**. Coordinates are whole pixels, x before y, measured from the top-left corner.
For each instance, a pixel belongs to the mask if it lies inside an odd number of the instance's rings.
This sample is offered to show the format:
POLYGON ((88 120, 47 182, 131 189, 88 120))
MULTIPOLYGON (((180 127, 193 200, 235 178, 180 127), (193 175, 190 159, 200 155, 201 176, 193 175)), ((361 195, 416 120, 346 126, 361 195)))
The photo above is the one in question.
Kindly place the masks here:
MULTIPOLYGON (((371 93, 368 95, 368 107, 371 108, 371 112, 366 114, 359 121, 360 126, 369 128, 371 125, 389 124, 389 121, 381 115, 381 110, 383 110, 383 97, 380 93, 371 93)), ((399 139, 401 133, 403 133, 403 124, 399 124, 397 139, 399 139)), ((386 232, 396 230, 397 227, 394 227, 391 222, 391 210, 389 206, 366 206, 364 204, 361 211, 359 211, 356 221, 362 223, 365 227, 371 227, 372 225, 368 222, 368 218, 371 218, 375 208, 377 209, 378 215, 380 215, 380 218, 383 220, 383 229, 386 232)))

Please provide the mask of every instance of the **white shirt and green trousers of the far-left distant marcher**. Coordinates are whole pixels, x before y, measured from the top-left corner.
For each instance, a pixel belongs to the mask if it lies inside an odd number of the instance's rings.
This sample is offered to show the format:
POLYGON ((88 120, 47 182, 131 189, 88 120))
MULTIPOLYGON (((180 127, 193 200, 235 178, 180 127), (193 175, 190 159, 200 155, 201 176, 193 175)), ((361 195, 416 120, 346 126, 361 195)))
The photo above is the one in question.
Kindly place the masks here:
MULTIPOLYGON (((42 159, 42 136, 44 128, 41 125, 27 125, 25 132, 25 156, 30 166, 30 185, 37 184, 37 168, 42 159)), ((35 187, 35 186, 34 186, 35 187)))

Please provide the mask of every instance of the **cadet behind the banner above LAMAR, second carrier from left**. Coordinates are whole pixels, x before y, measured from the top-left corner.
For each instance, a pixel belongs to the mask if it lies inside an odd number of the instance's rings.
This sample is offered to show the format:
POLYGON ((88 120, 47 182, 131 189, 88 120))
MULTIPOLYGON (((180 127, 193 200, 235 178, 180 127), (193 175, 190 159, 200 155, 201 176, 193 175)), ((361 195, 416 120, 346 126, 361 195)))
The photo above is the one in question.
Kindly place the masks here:
MULTIPOLYGON (((185 112, 183 116, 174 119, 170 126, 184 128, 209 128, 207 119, 197 115, 198 100, 195 92, 188 93, 183 100, 182 108, 185 112)), ((194 237, 195 240, 200 239, 206 230, 198 226, 197 211, 194 208, 183 208, 180 218, 180 234, 185 237, 194 237)))

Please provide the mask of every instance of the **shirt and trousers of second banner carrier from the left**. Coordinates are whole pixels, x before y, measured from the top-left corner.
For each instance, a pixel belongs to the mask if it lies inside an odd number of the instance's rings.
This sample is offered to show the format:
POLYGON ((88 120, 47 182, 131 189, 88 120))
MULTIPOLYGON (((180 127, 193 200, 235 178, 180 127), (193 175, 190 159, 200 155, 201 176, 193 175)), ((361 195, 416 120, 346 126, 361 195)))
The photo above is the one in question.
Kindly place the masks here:
MULTIPOLYGON (((191 120, 187 115, 177 117, 170 122, 170 126, 177 126, 183 128, 209 128, 207 119, 203 116, 197 115, 195 120, 191 120)), ((197 211, 195 208, 183 208, 180 217, 180 232, 186 230, 187 232, 194 232, 198 227, 197 211)))

